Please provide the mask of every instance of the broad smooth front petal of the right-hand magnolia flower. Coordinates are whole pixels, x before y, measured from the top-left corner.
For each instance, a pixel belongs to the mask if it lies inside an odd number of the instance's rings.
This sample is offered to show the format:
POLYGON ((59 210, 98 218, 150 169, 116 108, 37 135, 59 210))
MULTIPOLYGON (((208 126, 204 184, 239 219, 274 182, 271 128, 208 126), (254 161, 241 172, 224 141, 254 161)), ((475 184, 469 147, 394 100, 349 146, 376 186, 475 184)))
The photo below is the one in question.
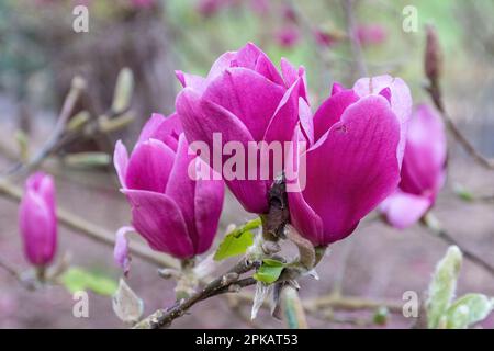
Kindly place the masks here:
POLYGON ((307 151, 303 196, 324 223, 321 245, 348 236, 400 181, 400 124, 382 97, 350 105, 307 151), (324 161, 322 161, 324 160, 324 161))

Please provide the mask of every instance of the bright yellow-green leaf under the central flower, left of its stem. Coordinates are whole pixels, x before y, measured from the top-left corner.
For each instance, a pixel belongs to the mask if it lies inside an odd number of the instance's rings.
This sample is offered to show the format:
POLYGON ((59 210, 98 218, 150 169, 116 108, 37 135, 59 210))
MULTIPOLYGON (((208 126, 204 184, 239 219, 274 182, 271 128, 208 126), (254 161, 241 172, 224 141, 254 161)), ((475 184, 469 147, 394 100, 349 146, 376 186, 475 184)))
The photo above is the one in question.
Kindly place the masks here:
POLYGON ((254 244, 254 233, 250 231, 261 225, 260 218, 247 222, 244 226, 228 233, 214 253, 215 261, 243 254, 254 244))

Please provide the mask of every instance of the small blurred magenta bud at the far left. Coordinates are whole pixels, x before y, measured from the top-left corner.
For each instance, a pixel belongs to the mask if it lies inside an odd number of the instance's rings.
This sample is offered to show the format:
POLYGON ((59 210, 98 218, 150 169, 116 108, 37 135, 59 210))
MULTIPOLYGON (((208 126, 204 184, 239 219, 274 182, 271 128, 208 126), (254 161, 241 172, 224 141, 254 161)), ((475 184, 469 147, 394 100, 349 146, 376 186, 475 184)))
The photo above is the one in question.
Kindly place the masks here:
POLYGON ((37 172, 27 178, 19 208, 19 227, 26 259, 34 265, 47 265, 57 248, 55 184, 50 176, 37 172))

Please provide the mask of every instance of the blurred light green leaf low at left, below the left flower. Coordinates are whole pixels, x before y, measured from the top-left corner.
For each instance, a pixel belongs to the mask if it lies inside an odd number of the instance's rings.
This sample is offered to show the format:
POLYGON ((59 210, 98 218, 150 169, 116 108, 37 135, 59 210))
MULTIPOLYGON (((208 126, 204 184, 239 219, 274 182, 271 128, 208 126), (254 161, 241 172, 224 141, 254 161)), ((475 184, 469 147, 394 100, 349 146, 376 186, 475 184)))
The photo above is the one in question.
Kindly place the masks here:
POLYGON ((61 283, 72 294, 78 291, 90 290, 103 296, 113 295, 119 286, 113 279, 79 267, 68 269, 61 275, 61 283))

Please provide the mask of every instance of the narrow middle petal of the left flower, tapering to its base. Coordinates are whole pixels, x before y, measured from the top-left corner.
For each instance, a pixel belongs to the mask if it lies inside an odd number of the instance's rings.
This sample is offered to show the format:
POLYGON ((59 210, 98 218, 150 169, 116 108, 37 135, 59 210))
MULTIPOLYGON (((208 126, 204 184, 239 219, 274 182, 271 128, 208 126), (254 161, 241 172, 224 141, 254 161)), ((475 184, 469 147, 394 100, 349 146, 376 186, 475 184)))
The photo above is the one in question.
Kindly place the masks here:
POLYGON ((186 136, 181 134, 165 194, 172 199, 179 206, 192 244, 197 247, 198 233, 194 225, 195 181, 188 173, 189 167, 197 156, 189 155, 188 151, 189 145, 187 144, 186 136))

